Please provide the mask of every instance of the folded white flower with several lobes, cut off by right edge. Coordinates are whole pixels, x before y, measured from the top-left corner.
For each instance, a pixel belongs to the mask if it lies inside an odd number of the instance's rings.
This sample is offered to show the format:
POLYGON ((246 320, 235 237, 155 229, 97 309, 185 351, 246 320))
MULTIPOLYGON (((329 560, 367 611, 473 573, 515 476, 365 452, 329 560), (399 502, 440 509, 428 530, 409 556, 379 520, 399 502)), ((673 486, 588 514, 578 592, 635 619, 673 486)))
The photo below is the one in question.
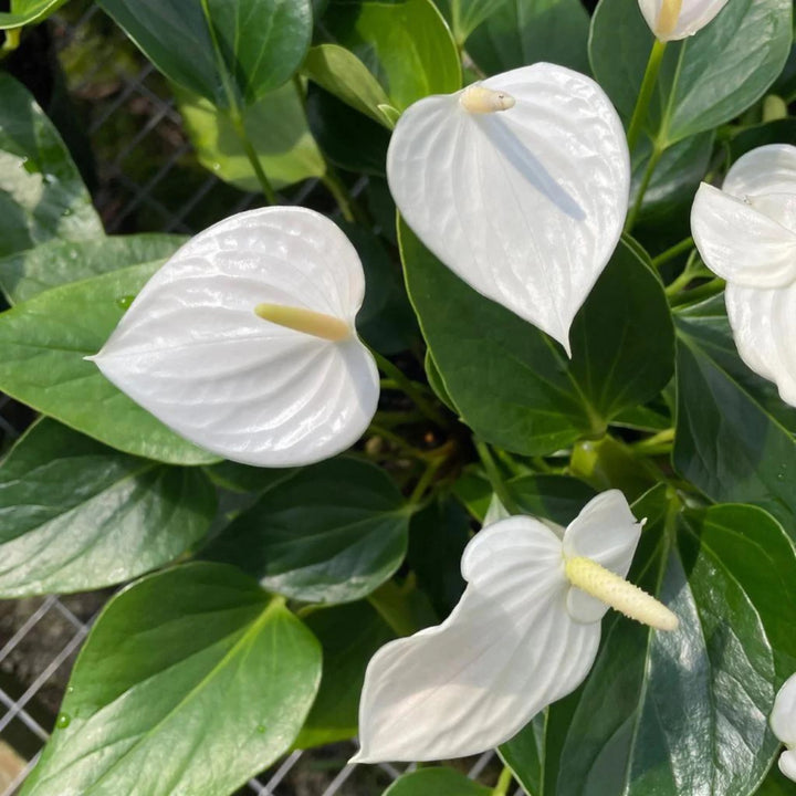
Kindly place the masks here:
POLYGON ((702 184, 691 232, 724 300, 741 358, 796 406, 796 147, 746 153, 722 190, 702 184))

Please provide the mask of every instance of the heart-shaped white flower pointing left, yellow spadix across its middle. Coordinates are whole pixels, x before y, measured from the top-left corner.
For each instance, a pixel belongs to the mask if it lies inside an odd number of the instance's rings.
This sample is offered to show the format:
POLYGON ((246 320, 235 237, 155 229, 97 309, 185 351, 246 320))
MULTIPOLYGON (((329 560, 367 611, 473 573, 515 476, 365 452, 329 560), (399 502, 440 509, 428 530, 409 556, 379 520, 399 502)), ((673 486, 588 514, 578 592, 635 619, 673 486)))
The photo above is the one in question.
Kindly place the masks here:
POLYGON ((359 258, 332 221, 250 210, 188 241, 88 358, 207 450, 308 464, 353 444, 376 411, 378 371, 354 325, 364 295, 359 258))

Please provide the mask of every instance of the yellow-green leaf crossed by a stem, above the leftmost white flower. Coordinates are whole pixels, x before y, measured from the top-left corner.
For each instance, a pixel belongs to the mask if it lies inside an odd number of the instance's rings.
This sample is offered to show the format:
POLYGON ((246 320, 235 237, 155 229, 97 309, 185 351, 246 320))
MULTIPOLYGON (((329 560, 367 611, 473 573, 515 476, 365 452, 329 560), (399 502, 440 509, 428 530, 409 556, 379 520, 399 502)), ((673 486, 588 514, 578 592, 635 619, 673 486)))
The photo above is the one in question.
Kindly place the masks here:
MULTIPOLYGON (((199 163, 235 188, 260 191, 260 180, 230 111, 177 86, 175 96, 199 163)), ((243 108, 241 116, 247 136, 274 189, 326 172, 295 83, 285 83, 264 94, 243 108)))

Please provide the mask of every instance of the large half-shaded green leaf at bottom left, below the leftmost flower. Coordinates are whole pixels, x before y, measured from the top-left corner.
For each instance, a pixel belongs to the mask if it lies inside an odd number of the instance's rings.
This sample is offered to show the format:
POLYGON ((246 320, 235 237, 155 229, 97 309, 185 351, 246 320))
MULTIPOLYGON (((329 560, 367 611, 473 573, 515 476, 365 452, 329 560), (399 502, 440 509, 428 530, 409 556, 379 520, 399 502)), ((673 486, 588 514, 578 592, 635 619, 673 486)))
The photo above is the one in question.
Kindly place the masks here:
POLYGON ((320 678, 317 641, 253 580, 158 573, 97 619, 22 793, 232 793, 290 748, 320 678))

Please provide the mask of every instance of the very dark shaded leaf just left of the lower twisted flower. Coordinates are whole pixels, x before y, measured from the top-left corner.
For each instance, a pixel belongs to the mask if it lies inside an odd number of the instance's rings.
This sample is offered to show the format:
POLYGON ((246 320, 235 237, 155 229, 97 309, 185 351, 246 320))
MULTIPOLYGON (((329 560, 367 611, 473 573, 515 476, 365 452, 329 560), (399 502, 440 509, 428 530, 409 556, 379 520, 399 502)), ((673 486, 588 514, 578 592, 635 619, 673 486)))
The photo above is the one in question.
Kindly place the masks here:
POLYGON ((441 618, 464 590, 459 562, 469 541, 470 517, 452 499, 438 498, 411 519, 407 559, 441 618))

